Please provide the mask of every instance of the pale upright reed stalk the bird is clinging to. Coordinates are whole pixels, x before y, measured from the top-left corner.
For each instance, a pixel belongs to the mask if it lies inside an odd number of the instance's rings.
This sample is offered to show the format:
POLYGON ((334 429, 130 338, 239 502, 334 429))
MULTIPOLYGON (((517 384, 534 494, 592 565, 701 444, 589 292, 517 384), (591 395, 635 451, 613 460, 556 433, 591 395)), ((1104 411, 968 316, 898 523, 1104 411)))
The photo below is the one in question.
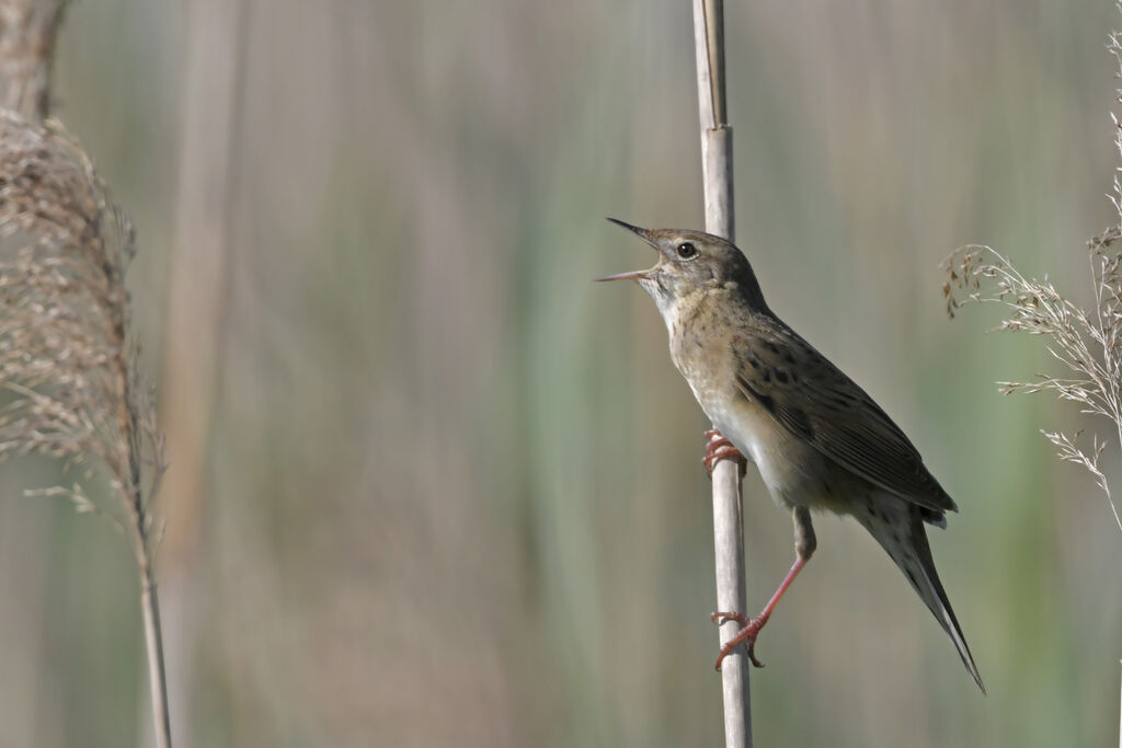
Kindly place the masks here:
MULTIPOLYGON (((726 121, 725 33, 721 0, 693 0, 701 159, 705 183, 705 225, 712 234, 734 239, 733 128, 726 121)), ((747 609, 744 582, 744 520, 741 469, 720 460, 712 470, 714 551, 717 610, 747 609)), ((719 628, 720 645, 736 636, 736 624, 719 628)), ((744 646, 734 649, 720 668, 727 748, 752 746, 752 707, 744 646)))

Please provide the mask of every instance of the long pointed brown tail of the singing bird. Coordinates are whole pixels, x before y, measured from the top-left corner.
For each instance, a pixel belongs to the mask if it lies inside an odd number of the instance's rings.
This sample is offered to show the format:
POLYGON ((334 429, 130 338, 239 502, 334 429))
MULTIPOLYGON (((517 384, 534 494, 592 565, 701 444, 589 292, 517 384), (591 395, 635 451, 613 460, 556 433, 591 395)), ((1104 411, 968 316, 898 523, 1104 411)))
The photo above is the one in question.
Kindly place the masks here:
POLYGON ((982 693, 985 693, 985 685, 982 684, 982 676, 978 675, 971 648, 966 645, 966 637, 963 636, 950 600, 947 599, 947 592, 942 589, 939 574, 935 570, 921 508, 904 504, 894 496, 877 497, 865 507, 864 511, 855 512, 854 516, 876 538, 911 582, 912 588, 950 637, 974 682, 978 684, 982 693))

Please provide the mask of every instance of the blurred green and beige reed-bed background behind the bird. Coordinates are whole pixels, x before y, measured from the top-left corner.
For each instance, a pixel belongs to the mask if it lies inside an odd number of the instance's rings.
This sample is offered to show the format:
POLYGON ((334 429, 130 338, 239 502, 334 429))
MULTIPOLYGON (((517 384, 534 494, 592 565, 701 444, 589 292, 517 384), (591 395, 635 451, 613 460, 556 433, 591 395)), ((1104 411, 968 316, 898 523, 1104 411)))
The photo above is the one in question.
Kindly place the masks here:
MULTIPOLYGON (((949 322, 939 264, 985 242, 1089 298, 1116 10, 726 16, 738 244, 962 507, 931 541, 990 690, 824 517, 756 745, 1112 745, 1122 534, 1038 433, 1091 424, 997 395, 1040 341, 949 322)), ((604 216, 701 225, 692 38, 684 0, 71 8, 55 113, 136 220, 169 414, 180 745, 723 745, 707 424, 650 299, 589 283, 651 261, 604 216)), ((144 745, 130 552, 21 497, 54 470, 0 471, 0 745, 144 745)), ((791 527, 751 473, 745 514, 755 609, 791 527)))

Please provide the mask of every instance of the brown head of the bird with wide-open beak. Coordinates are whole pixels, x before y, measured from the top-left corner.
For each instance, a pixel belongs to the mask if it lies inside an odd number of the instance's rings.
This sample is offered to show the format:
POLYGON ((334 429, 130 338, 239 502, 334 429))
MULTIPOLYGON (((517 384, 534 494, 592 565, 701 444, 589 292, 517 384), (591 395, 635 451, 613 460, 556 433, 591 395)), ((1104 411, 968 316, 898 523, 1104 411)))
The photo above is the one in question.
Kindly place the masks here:
POLYGON ((664 317, 678 303, 696 293, 732 293, 749 307, 767 310, 748 259, 727 239, 703 231, 641 229, 608 219, 638 236, 659 252, 659 262, 649 270, 634 270, 597 280, 637 280, 659 305, 664 317))

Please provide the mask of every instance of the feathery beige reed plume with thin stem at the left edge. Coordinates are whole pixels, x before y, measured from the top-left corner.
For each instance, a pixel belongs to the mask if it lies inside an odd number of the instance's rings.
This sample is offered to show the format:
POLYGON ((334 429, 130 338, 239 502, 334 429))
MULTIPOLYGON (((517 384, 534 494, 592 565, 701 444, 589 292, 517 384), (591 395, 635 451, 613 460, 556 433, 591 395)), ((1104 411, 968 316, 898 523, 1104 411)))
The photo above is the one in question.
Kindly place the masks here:
POLYGON ((84 465, 83 479, 103 473, 120 499, 95 507, 81 481, 33 492, 68 496, 132 539, 163 748, 171 737, 151 515, 163 440, 130 334, 125 273, 134 252, 132 225, 81 146, 56 122, 40 128, 0 111, 0 389, 9 395, 0 461, 36 453, 84 465))

